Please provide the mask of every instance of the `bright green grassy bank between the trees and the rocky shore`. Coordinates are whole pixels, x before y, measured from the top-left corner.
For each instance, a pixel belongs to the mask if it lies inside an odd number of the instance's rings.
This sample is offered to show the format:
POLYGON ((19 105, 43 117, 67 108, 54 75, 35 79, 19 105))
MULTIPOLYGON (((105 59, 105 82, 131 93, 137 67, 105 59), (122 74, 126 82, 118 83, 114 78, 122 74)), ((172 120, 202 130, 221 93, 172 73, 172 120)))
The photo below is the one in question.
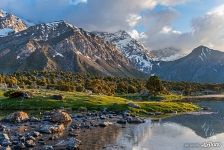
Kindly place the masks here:
POLYGON ((146 114, 147 112, 188 112, 199 109, 190 103, 182 102, 149 102, 149 101, 132 101, 121 97, 105 95, 87 95, 78 92, 61 92, 51 90, 29 90, 34 94, 32 99, 19 100, 9 99, 3 96, 0 91, 0 109, 1 110, 51 110, 59 108, 69 108, 78 110, 82 107, 88 110, 102 110, 107 108, 112 111, 130 110, 133 114, 146 114), (53 94, 64 95, 63 101, 51 99, 53 94), (128 107, 127 103, 132 102, 140 105, 140 109, 128 107))

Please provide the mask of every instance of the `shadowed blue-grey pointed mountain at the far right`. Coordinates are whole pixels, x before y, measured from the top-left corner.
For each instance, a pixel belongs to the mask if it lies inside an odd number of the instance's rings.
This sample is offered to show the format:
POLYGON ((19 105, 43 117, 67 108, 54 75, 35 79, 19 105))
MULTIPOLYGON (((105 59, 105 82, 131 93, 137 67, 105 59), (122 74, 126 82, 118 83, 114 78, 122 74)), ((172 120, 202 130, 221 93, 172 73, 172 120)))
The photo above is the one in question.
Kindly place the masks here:
POLYGON ((224 82, 224 52, 199 46, 189 55, 170 62, 155 62, 153 73, 164 80, 224 82))

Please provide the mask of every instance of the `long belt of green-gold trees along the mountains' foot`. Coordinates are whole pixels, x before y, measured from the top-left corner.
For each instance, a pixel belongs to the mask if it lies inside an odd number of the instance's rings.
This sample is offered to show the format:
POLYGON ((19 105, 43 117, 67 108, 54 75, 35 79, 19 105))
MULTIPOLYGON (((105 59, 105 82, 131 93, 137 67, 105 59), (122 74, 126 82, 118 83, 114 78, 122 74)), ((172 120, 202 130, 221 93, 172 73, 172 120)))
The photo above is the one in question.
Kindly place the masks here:
POLYGON ((149 91, 151 95, 168 93, 168 91, 190 95, 195 91, 211 90, 220 92, 224 89, 224 84, 168 82, 161 81, 156 76, 148 79, 136 79, 47 71, 17 72, 10 75, 0 74, 0 85, 78 92, 90 90, 93 93, 106 95, 141 93, 141 91, 149 91))

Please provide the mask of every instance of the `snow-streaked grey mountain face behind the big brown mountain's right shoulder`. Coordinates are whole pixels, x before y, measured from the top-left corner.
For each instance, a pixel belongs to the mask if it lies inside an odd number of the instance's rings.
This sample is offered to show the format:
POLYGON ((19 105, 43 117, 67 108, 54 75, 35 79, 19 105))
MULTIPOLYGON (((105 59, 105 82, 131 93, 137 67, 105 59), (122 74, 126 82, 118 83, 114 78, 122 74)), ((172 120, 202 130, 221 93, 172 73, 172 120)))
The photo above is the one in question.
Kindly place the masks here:
POLYGON ((120 52, 128 58, 134 66, 147 74, 152 70, 152 55, 139 41, 133 39, 127 32, 118 31, 115 33, 93 32, 106 41, 112 42, 120 52))

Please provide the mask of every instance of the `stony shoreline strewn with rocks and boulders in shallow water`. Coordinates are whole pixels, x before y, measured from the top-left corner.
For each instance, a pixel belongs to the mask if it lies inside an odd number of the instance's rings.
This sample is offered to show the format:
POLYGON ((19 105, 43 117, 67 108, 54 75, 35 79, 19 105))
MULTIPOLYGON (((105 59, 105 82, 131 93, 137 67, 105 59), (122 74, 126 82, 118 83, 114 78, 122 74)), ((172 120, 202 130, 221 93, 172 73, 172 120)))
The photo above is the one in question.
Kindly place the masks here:
POLYGON ((105 110, 79 113, 53 110, 44 112, 40 118, 15 112, 0 121, 0 149, 80 149, 85 144, 77 138, 80 132, 144 122, 128 112, 117 114, 105 110))

